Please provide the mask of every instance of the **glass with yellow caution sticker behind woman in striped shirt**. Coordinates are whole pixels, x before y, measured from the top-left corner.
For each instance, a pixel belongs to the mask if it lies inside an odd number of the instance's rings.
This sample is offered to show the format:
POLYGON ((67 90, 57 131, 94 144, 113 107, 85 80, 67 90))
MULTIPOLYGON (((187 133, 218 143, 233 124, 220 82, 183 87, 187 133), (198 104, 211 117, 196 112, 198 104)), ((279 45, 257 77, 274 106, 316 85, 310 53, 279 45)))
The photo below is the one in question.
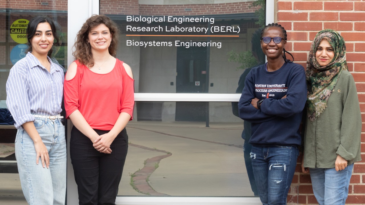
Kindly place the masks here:
MULTIPOLYGON (((60 1, 60 0, 58 0, 60 1)), ((57 3, 57 1, 52 4, 57 3)), ((67 4, 65 4, 67 5, 67 4)), ((26 32, 27 22, 39 14, 50 16, 55 21, 57 33, 60 38, 58 45, 53 46, 52 61, 62 67, 67 67, 67 6, 58 8, 58 11, 51 11, 54 5, 49 5, 47 10, 39 9, 18 9, 15 5, 7 5, 10 8, 0 9, 0 100, 6 100, 5 85, 9 76, 9 70, 20 59, 25 57, 27 49, 26 32), (18 34, 19 33, 19 34, 18 34)), ((54 8, 56 9, 56 8, 54 8)))

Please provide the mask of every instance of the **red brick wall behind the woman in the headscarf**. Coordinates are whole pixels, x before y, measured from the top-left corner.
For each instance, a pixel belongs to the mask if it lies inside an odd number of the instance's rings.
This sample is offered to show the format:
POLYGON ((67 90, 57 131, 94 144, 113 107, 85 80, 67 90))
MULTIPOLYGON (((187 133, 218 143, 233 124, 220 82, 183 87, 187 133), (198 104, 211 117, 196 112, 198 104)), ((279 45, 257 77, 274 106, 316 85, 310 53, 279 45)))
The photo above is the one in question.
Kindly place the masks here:
MULTIPOLYGON (((356 81, 362 116, 361 155, 355 163, 346 204, 365 204, 365 1, 360 0, 276 0, 276 18, 288 33, 287 50, 305 67, 315 34, 331 28, 346 41, 346 58, 356 81)), ((309 174, 297 165, 288 204, 317 204, 309 174)))

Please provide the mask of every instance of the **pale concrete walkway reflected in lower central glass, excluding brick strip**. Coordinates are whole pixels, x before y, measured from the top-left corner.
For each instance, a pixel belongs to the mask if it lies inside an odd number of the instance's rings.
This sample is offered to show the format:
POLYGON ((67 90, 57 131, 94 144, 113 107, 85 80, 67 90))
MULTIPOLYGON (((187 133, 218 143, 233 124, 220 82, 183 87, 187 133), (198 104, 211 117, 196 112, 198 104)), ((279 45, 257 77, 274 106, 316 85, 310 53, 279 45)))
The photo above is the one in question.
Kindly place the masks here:
POLYGON ((118 194, 133 196, 135 190, 126 188, 130 183, 126 175, 143 169, 146 159, 164 155, 157 151, 164 150, 172 155, 161 159, 148 179, 156 192, 169 196, 253 196, 243 162, 241 123, 210 123, 207 128, 205 122, 131 121, 127 132, 131 144, 156 151, 138 156, 147 149, 130 144, 118 194), (131 163, 140 166, 130 169, 131 163))

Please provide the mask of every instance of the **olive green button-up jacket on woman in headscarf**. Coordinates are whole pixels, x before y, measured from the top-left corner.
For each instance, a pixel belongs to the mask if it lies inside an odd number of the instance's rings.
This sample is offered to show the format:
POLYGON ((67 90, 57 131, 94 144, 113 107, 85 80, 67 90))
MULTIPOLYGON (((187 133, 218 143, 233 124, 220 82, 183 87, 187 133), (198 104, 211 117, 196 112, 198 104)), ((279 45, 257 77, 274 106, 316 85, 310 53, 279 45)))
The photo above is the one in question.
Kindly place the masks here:
POLYGON ((337 155, 347 165, 361 160, 361 113, 355 81, 343 70, 327 101, 313 122, 306 119, 304 167, 334 168, 337 155))

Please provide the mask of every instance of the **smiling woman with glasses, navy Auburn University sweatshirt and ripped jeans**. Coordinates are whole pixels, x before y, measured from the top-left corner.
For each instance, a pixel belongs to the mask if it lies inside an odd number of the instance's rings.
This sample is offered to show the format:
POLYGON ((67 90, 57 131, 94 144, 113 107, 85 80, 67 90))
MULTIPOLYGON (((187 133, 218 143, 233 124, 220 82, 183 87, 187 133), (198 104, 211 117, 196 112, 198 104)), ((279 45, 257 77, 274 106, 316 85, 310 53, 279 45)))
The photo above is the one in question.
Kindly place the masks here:
POLYGON ((286 43, 287 33, 280 24, 265 26, 261 47, 268 62, 247 75, 238 103, 239 116, 251 122, 250 157, 264 205, 286 204, 307 100, 304 68, 286 59, 286 43))

